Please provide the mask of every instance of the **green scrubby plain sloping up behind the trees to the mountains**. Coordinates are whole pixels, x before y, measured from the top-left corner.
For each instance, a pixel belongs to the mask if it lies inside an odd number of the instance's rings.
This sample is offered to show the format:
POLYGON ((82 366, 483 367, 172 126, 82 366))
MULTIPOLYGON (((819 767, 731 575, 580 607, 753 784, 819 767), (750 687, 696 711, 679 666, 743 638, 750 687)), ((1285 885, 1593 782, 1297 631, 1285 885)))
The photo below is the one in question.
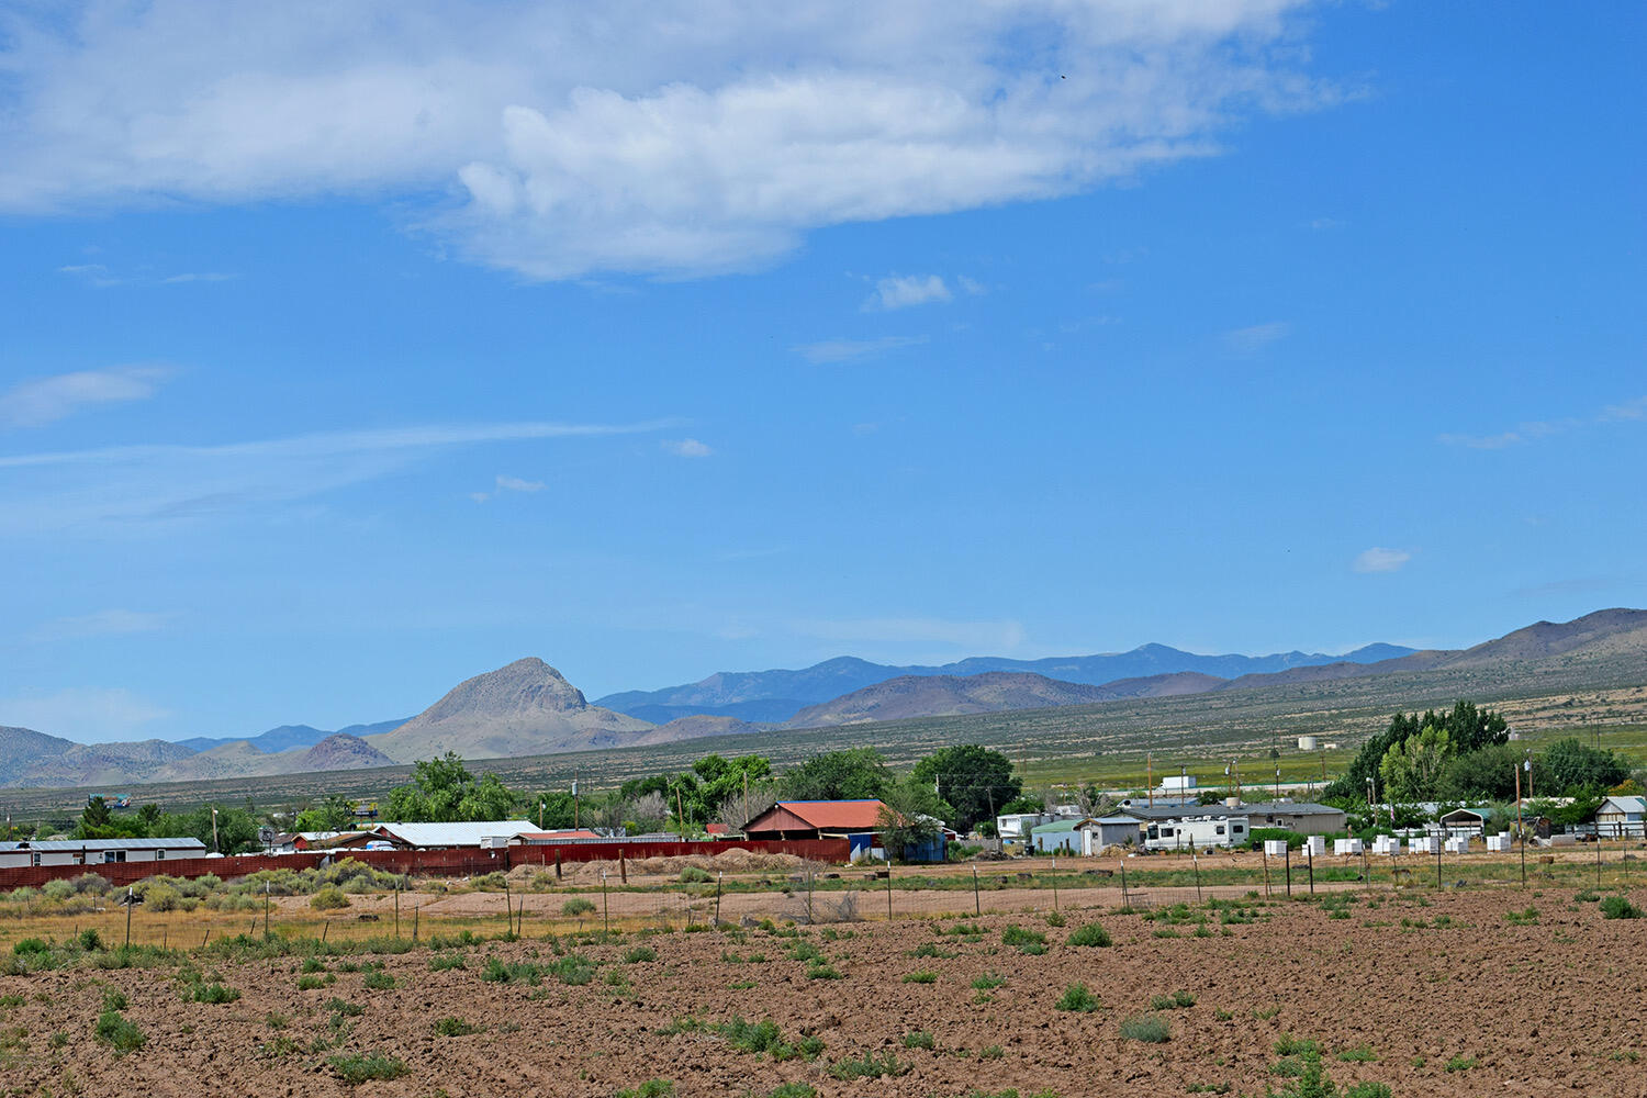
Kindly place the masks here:
MULTIPOLYGON (((1398 710, 1451 708, 1459 698, 1494 708, 1510 719, 1528 746, 1560 736, 1599 739, 1647 764, 1647 673, 1634 660, 1540 662, 1494 668, 1423 672, 1229 690, 1183 698, 1143 698, 1057 710, 1026 710, 952 718, 883 721, 845 728, 725 736, 679 744, 583 751, 520 759, 473 761, 519 790, 567 789, 576 772, 586 790, 657 772, 684 770, 708 754, 761 752, 779 769, 842 747, 871 746, 899 769, 937 747, 982 742, 1006 752, 1029 789, 1095 784, 1103 789, 1145 787, 1146 756, 1155 777, 1183 765, 1202 785, 1220 787, 1224 767, 1237 759, 1243 784, 1275 782, 1280 752, 1283 784, 1319 782, 1354 756, 1398 710), (1298 736, 1316 736, 1331 751, 1299 752, 1298 736)), ((288 805, 328 793, 380 797, 402 784, 410 767, 226 779, 132 787, 135 800, 184 810, 208 802, 288 805)), ((99 787, 92 792, 107 792, 99 787)), ((77 813, 87 790, 0 790, 0 812, 18 820, 77 813)))

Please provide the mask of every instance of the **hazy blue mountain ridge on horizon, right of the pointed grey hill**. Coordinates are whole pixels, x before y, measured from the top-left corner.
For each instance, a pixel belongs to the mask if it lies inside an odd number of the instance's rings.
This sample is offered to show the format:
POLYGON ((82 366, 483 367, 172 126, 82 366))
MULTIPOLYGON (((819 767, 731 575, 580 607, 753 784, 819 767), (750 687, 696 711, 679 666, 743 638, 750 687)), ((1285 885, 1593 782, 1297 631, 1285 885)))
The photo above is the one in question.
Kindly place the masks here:
POLYGON ((1021 672, 1044 675, 1057 682, 1102 686, 1123 678, 1151 678, 1192 672, 1217 678, 1237 678, 1283 672, 1293 667, 1324 663, 1374 663, 1408 655, 1411 649, 1393 644, 1370 644, 1344 655, 1318 652, 1280 652, 1273 655, 1196 655, 1164 644, 1146 644, 1131 652, 1102 655, 1067 655, 1044 660, 1010 660, 1005 657, 970 657, 942 667, 889 667, 855 657, 837 657, 802 670, 720 672, 708 678, 662 690, 628 690, 606 695, 596 705, 647 721, 670 721, 677 716, 707 713, 735 716, 756 723, 784 723, 800 710, 840 698, 855 690, 904 677, 983 675, 988 672, 1021 672))

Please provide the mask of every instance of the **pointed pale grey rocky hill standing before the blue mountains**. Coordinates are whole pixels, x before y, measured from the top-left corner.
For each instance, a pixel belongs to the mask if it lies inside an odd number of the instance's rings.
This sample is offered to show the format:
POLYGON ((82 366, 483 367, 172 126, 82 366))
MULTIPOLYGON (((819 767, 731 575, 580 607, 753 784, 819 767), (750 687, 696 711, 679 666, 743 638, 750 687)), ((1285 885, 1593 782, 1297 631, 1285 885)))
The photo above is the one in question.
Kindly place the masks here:
POLYGON ((539 658, 458 683, 420 714, 367 742, 397 762, 456 751, 464 759, 616 747, 652 728, 593 706, 583 691, 539 658))

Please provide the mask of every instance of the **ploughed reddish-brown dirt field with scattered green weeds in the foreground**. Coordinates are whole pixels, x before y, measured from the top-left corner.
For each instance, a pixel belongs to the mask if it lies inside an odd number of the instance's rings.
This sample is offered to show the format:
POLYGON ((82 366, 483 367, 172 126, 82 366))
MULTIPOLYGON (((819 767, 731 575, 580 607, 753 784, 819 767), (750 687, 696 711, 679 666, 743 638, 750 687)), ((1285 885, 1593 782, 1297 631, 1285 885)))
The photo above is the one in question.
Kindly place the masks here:
POLYGON ((1273 1073, 1283 1034, 1318 1040, 1341 1088, 1379 1080, 1398 1096, 1647 1093, 1644 1017, 1632 1006, 1647 981, 1647 920, 1604 920, 1598 904, 1553 889, 1346 897, 1332 900, 1341 917, 1319 902, 1275 900, 1237 914, 1186 909, 1176 920, 1164 910, 1153 920, 1075 910, 1064 927, 1044 915, 987 915, 799 937, 529 937, 469 947, 463 968, 441 971, 428 948, 318 958, 310 968, 321 971, 308 976, 321 986, 308 991, 298 991, 300 956, 191 958, 194 984, 240 993, 217 1004, 184 1001, 191 984, 176 963, 105 971, 82 961, 0 978, 0 1093, 611 1098, 670 1080, 682 1098, 764 1096, 782 1083, 922 1098, 1005 1088, 1263 1095, 1296 1082, 1273 1073), (1113 945, 1069 945, 1087 922, 1100 922, 1113 945), (1047 951, 1008 945, 1008 927, 1044 933, 1047 951), (935 933, 955 928, 982 933, 935 933), (522 970, 514 983, 481 979, 489 958, 567 965, 557 948, 593 963, 588 983, 545 971, 534 984, 522 970), (636 948, 656 958, 626 958, 636 948), (820 963, 838 978, 814 978, 820 963), (916 973, 932 981, 904 979, 916 973), (998 986, 973 983, 996 976, 998 986), (1077 981, 1095 1009, 1057 1009, 1077 981), (125 1055, 94 1037, 110 991, 127 998, 124 1017, 147 1037, 125 1055), (1151 1009, 1173 993, 1194 1003, 1151 1009), (334 999, 362 1009, 339 1014, 334 999), (784 1040, 815 1037, 822 1050, 810 1062, 740 1052, 716 1032, 735 1014, 771 1017, 784 1040), (1164 1021, 1169 1040, 1123 1039, 1122 1022, 1140 1014, 1164 1021), (440 1035, 443 1017, 478 1032, 440 1035), (931 1034, 932 1047, 911 1034, 931 1034), (390 1057, 405 1075, 351 1088, 328 1063, 349 1054, 390 1057), (838 1078, 842 1062, 865 1054, 893 1073, 838 1078))

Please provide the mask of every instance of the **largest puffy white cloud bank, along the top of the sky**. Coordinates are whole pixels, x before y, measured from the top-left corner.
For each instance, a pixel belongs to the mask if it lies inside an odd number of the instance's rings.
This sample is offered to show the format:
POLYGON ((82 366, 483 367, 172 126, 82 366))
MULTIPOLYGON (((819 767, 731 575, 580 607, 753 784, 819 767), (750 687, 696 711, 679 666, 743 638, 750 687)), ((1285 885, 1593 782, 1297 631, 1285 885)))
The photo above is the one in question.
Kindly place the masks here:
POLYGON ((746 270, 1332 104, 1298 67, 1306 7, 44 5, 5 23, 0 209, 450 188, 423 224, 529 278, 746 270))

